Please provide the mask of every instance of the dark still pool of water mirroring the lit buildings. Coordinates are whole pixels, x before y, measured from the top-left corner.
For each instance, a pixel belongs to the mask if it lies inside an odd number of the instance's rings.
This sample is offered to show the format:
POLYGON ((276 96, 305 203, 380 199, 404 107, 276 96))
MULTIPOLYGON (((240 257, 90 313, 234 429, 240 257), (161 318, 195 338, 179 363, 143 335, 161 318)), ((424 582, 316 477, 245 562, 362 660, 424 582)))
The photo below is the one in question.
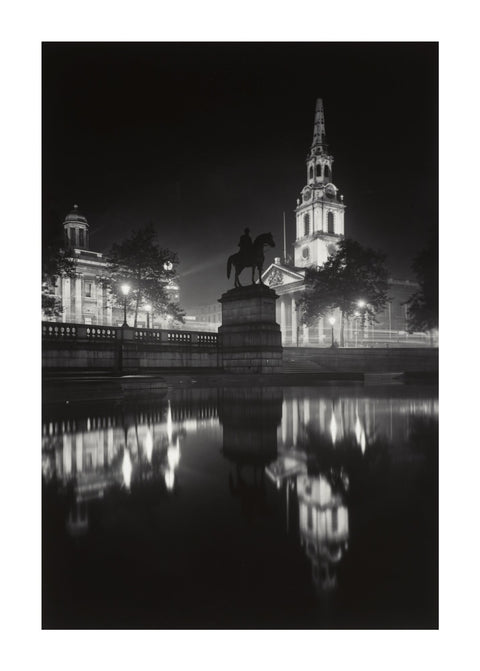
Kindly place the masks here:
POLYGON ((429 386, 46 405, 44 628, 438 626, 429 386))

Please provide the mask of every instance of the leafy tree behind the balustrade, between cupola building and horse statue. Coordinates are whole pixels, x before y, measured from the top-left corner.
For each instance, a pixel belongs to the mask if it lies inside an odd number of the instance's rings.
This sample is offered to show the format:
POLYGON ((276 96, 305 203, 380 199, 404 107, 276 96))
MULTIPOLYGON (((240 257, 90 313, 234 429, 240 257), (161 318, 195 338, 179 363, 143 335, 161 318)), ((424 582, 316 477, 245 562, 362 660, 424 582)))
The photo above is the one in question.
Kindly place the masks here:
POLYGON ((137 326, 138 310, 142 303, 150 303, 157 314, 169 314, 183 321, 183 311, 170 300, 167 286, 176 277, 175 252, 159 247, 153 224, 134 231, 129 238, 112 245, 108 255, 107 283, 119 305, 124 304, 123 283, 130 284, 128 304, 134 310, 137 326))

